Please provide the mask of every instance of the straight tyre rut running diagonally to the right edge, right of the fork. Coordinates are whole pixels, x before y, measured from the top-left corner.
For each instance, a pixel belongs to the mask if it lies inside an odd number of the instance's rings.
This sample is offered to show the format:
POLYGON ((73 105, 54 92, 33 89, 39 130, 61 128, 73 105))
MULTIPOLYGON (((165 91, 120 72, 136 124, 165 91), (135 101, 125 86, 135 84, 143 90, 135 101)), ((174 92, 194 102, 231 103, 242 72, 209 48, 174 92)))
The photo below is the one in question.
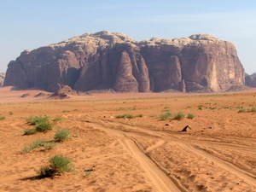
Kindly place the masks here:
POLYGON ((186 143, 177 143, 177 144, 179 146, 181 146, 182 148, 185 148, 185 149, 193 152, 194 154, 198 154, 204 158, 207 158, 208 160, 212 160, 212 162, 214 162, 214 164, 220 166, 221 168, 223 168, 224 170, 226 170, 228 172, 235 174, 238 177, 241 177, 247 183, 250 183, 254 187, 256 187, 256 177, 253 176, 252 173, 242 170, 241 168, 234 166, 233 164, 231 164, 227 161, 221 160, 218 157, 213 156, 212 154, 208 154, 207 152, 197 149, 190 144, 186 144, 186 143))

